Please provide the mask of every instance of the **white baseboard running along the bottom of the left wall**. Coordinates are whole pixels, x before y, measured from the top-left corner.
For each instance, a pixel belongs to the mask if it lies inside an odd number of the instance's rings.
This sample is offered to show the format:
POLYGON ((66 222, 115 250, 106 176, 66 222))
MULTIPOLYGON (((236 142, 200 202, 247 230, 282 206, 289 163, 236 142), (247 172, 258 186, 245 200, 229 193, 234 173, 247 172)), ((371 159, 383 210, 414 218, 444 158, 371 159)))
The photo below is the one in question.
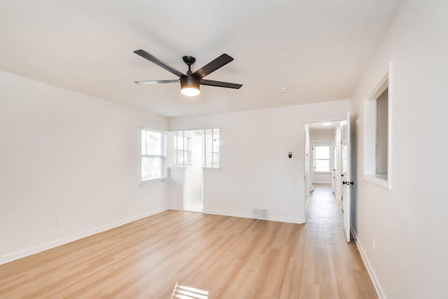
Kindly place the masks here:
POLYGON ((132 221, 137 221, 137 220, 139 220, 141 218, 145 218, 145 217, 148 217, 148 216, 159 214, 162 211, 167 211, 167 210, 168 209, 166 208, 166 209, 158 209, 158 210, 155 210, 155 211, 149 211, 149 212, 144 213, 144 214, 139 214, 137 216, 132 216, 130 218, 126 218, 126 219, 123 219, 123 220, 120 220, 120 221, 116 221, 116 222, 113 222, 113 223, 102 225, 102 226, 99 226, 98 228, 93 228, 92 230, 85 230, 84 232, 79 232, 79 233, 77 233, 75 235, 71 235, 69 237, 63 237, 62 239, 57 239, 57 240, 54 240, 54 241, 51 241, 51 242, 48 242, 48 243, 45 243, 45 244, 40 244, 40 245, 37 245, 37 246, 33 246, 33 247, 28 248, 28 249, 22 249, 20 251, 16 251, 16 252, 13 252, 13 253, 8 253, 8 254, 6 254, 4 256, 0 256, 0 265, 3 265, 5 263, 9 263, 9 262, 11 262, 13 260, 18 260, 19 258, 25 258, 26 256, 31 256, 32 254, 35 254, 35 253, 39 253, 39 252, 42 252, 42 251, 45 251, 45 250, 48 250, 48 249, 55 248, 57 246, 61 246, 61 245, 67 244, 67 243, 76 241, 78 239, 83 239, 84 237, 89 237, 89 236, 97 234, 99 232, 104 232, 106 230, 111 230, 112 228, 117 228, 118 226, 125 225, 127 223, 132 222, 132 221))

